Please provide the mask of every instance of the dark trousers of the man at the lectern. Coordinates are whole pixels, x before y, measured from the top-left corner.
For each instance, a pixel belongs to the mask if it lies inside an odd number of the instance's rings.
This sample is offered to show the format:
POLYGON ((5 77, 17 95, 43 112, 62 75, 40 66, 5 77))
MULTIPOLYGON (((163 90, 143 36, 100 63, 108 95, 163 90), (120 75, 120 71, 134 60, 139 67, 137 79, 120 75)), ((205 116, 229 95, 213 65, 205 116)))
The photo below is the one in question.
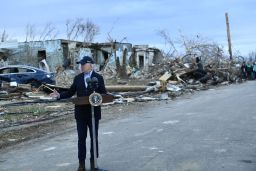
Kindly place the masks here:
MULTIPOLYGON (((78 159, 79 161, 84 161, 86 159, 86 137, 87 128, 89 128, 90 139, 91 139, 91 160, 93 156, 93 135, 92 135, 92 120, 91 119, 76 119, 77 134, 78 134, 78 159)), ((99 120, 95 119, 95 132, 96 132, 96 155, 99 157, 98 152, 98 129, 99 120)))

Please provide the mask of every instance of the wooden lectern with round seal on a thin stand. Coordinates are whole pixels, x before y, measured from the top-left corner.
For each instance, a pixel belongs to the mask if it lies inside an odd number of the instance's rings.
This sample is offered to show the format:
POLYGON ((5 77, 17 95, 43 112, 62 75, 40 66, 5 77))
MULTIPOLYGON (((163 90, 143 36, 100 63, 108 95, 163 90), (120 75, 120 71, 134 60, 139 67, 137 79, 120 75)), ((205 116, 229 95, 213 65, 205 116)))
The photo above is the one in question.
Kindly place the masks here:
POLYGON ((96 156, 96 131, 95 131, 95 115, 94 107, 100 106, 102 103, 112 102, 114 97, 110 94, 99 94, 95 91, 90 96, 76 97, 71 101, 75 105, 88 105, 92 107, 92 135, 93 135, 93 158, 94 158, 94 170, 98 170, 97 156, 96 156))

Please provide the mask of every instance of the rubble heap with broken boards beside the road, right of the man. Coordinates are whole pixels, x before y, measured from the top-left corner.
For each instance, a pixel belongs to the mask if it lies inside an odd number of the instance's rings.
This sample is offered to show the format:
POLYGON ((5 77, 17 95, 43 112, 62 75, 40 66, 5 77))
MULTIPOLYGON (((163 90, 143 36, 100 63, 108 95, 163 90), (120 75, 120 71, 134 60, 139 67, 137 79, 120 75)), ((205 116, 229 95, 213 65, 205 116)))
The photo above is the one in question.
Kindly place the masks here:
POLYGON ((150 80, 144 90, 134 91, 134 86, 122 85, 118 89, 112 87, 111 92, 118 94, 113 103, 132 101, 166 100, 195 90, 206 90, 216 85, 227 85, 241 82, 240 67, 236 62, 225 58, 208 58, 197 61, 196 57, 165 59, 154 64, 148 70, 129 68, 129 78, 134 80, 150 80), (123 90, 123 91, 122 91, 123 90), (121 97, 120 97, 121 96, 121 97), (131 100, 130 100, 131 101, 131 100))

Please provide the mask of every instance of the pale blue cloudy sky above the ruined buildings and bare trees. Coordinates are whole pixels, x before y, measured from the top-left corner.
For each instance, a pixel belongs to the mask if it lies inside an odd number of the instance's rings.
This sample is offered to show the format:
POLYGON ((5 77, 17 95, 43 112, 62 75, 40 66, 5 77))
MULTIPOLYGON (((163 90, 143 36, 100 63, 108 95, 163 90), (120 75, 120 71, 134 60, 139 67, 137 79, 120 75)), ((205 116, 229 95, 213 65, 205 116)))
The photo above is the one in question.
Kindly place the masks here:
MULTIPOLYGON (((180 32, 197 35, 227 50, 225 12, 229 14, 233 51, 256 51, 255 0, 1 0, 0 31, 24 41, 27 24, 37 30, 52 23, 65 39, 67 19, 90 19, 100 28, 95 42, 112 38, 132 44, 164 47, 159 30, 173 40, 180 32)), ((226 52, 227 53, 227 52, 226 52)))

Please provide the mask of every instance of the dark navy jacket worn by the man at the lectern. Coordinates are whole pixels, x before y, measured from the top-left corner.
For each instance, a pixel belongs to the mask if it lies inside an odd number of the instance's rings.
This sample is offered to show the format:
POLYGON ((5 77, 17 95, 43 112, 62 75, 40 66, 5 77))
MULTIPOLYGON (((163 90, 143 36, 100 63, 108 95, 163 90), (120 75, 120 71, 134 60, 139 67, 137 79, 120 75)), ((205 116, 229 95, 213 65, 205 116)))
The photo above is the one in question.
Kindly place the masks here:
MULTIPOLYGON (((95 90, 100 94, 106 94, 106 88, 104 84, 103 77, 96 73, 92 72, 91 78, 96 77, 98 79, 98 88, 95 90)), ((73 95, 77 95, 77 97, 82 96, 89 96, 92 91, 85 87, 84 82, 84 73, 78 74, 73 81, 73 84, 69 88, 68 91, 60 93, 60 99, 70 98, 73 95)), ((101 107, 96 106, 94 107, 94 115, 95 119, 101 119, 101 107)), ((76 119, 91 119, 92 112, 91 112, 91 105, 75 105, 75 118, 76 119)))

